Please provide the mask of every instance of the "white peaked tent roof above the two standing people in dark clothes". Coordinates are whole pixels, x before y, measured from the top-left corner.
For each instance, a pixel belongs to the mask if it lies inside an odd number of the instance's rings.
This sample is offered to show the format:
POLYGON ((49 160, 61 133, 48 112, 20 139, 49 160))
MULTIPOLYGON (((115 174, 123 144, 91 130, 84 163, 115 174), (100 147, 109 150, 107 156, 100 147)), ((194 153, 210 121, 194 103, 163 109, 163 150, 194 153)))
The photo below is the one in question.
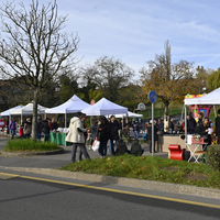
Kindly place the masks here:
POLYGON ((82 112, 87 116, 127 114, 128 108, 121 107, 106 98, 102 98, 94 106, 84 109, 82 112))

